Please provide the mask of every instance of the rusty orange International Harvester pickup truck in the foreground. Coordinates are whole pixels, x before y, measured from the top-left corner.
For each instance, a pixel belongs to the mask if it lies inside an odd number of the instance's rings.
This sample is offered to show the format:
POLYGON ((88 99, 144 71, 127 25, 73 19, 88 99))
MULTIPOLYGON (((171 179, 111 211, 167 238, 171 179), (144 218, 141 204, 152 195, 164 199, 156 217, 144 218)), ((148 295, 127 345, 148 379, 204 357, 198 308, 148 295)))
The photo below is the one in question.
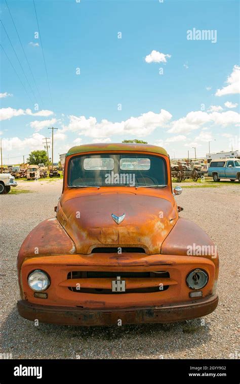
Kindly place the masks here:
POLYGON ((214 311, 218 254, 200 227, 180 217, 180 193, 161 147, 71 148, 56 217, 38 224, 18 254, 19 314, 89 326, 214 311))

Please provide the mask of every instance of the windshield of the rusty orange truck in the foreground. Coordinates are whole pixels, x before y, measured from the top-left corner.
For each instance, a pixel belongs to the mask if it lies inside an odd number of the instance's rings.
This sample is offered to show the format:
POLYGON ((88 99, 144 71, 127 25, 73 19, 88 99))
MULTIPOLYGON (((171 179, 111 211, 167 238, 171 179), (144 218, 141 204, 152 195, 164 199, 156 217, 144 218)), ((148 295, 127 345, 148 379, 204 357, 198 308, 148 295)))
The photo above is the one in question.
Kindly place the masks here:
POLYGON ((74 156, 68 165, 69 187, 166 184, 166 162, 160 156, 109 153, 82 155, 74 156))

